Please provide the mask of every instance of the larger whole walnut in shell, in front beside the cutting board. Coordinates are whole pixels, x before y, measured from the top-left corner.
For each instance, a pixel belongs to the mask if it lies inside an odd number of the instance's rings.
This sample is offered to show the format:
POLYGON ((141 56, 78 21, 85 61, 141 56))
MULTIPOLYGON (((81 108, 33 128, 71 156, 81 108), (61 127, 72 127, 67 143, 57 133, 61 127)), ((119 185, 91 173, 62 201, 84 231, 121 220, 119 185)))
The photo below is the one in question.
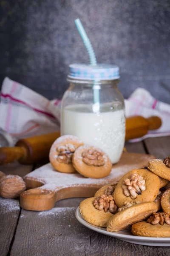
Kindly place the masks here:
POLYGON ((26 183, 18 175, 7 175, 0 179, 0 195, 4 198, 17 198, 24 190, 26 183))

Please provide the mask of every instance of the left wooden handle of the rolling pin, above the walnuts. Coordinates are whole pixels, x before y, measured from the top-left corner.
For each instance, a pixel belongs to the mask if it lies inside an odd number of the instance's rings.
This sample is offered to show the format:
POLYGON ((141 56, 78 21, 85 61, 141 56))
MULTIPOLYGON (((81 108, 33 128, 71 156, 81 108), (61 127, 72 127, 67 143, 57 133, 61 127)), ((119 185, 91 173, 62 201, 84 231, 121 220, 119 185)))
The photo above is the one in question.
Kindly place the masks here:
POLYGON ((0 165, 12 163, 26 156, 26 150, 22 147, 3 147, 0 148, 0 165))

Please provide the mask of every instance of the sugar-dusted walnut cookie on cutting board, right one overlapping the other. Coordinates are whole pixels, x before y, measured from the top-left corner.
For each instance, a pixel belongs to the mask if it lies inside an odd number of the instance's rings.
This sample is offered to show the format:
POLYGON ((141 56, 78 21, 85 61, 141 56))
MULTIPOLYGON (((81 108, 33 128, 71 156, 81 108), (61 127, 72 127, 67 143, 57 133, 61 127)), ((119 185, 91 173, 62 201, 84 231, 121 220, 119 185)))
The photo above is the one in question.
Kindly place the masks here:
POLYGON ((101 149, 83 145, 73 155, 73 166, 81 175, 91 178, 102 178, 109 175, 112 163, 101 149))

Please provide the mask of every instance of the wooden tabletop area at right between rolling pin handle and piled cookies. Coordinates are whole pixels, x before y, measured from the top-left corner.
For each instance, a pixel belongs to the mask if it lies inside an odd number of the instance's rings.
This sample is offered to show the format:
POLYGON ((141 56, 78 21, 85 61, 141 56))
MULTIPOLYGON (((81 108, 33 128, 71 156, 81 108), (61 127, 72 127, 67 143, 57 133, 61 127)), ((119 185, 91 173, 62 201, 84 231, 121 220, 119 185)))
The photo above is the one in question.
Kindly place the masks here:
POLYGON ((149 154, 164 159, 170 155, 170 137, 147 138, 144 140, 149 154))

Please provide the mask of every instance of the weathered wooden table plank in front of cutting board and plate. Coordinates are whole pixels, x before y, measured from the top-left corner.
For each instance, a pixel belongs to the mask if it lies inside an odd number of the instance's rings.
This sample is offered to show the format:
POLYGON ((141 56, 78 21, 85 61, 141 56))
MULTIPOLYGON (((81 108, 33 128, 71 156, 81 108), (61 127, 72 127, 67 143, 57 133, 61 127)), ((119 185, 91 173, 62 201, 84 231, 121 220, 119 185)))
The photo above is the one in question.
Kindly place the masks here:
POLYGON ((21 211, 11 256, 151 256, 170 254, 169 247, 126 243, 96 233, 75 218, 76 208, 21 211))

